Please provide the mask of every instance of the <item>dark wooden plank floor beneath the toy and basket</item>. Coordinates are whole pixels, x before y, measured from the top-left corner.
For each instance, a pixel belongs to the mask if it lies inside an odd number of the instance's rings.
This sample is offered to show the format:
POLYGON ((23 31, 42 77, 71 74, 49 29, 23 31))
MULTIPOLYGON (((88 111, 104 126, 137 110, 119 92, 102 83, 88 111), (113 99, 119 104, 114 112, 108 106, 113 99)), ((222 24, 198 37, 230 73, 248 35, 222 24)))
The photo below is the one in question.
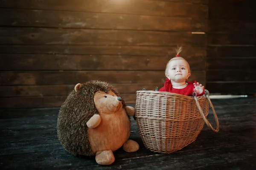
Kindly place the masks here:
MULTIPOLYGON (((57 139, 58 108, 0 110, 0 169, 256 169, 256 97, 215 99, 220 122, 215 134, 207 126, 192 144, 168 155, 143 146, 136 121, 131 139, 140 144, 136 153, 114 152, 110 166, 94 157, 67 153, 57 139)), ((209 121, 214 124, 212 112, 209 121)))

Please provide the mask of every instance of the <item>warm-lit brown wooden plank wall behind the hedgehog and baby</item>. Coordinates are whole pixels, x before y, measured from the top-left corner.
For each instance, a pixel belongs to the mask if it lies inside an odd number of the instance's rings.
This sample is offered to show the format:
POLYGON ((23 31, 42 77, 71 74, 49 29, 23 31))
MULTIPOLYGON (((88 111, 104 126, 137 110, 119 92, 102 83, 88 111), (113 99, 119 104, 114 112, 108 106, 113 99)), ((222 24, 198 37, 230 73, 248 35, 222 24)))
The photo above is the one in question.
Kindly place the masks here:
POLYGON ((163 86, 175 47, 205 84, 208 0, 0 0, 0 108, 60 107, 107 81, 126 103, 163 86))

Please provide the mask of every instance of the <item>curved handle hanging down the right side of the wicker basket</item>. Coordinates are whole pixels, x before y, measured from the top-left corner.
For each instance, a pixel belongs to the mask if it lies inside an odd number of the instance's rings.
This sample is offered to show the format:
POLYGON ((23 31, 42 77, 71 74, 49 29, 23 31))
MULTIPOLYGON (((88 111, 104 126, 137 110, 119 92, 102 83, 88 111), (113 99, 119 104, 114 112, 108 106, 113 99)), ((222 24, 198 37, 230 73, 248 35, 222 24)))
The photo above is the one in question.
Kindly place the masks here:
POLYGON ((202 111, 202 109, 201 109, 201 107, 200 107, 200 105, 199 105, 198 99, 196 98, 196 92, 193 92, 193 97, 194 97, 195 103, 196 103, 196 105, 197 105, 197 107, 198 107, 198 109, 199 109, 199 111, 200 111, 200 114, 201 114, 202 118, 204 119, 205 123, 207 124, 207 126, 208 126, 213 132, 218 133, 218 131, 219 131, 218 117, 217 117, 216 112, 215 112, 215 110, 214 110, 214 108, 213 108, 212 102, 211 102, 211 100, 210 100, 210 98, 209 98, 209 91, 208 91, 208 90, 205 90, 205 94, 206 94, 206 97, 207 97, 207 99, 208 99, 208 101, 209 101, 209 105, 210 105, 210 107, 211 107, 211 109, 212 109, 212 112, 213 112, 213 115, 214 115, 214 118, 215 118, 215 122, 216 122, 216 125, 217 125, 217 126, 216 126, 216 129, 214 129, 214 128, 212 127, 212 125, 209 123, 209 121, 205 118, 204 113, 203 113, 203 111, 202 111), (194 93, 195 93, 195 95, 194 95, 194 93))

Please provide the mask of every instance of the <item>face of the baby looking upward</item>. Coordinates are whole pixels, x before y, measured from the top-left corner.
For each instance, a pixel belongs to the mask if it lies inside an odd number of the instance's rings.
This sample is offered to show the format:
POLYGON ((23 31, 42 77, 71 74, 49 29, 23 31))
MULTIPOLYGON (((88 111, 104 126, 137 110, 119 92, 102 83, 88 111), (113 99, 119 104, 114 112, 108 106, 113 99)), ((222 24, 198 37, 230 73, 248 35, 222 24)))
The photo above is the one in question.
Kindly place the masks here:
POLYGON ((179 59, 169 62, 166 77, 171 80, 171 82, 185 82, 186 79, 189 78, 189 75, 189 68, 186 61, 179 59))

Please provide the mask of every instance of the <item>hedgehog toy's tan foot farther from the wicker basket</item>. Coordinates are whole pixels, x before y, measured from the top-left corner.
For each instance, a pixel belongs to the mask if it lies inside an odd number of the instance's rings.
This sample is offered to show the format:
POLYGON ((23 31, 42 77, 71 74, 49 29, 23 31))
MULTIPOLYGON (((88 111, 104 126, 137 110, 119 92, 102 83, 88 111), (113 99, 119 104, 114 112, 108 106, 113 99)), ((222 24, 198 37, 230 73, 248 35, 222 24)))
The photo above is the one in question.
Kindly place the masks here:
POLYGON ((110 165, 115 161, 112 150, 98 151, 96 153, 96 162, 100 165, 110 165))

